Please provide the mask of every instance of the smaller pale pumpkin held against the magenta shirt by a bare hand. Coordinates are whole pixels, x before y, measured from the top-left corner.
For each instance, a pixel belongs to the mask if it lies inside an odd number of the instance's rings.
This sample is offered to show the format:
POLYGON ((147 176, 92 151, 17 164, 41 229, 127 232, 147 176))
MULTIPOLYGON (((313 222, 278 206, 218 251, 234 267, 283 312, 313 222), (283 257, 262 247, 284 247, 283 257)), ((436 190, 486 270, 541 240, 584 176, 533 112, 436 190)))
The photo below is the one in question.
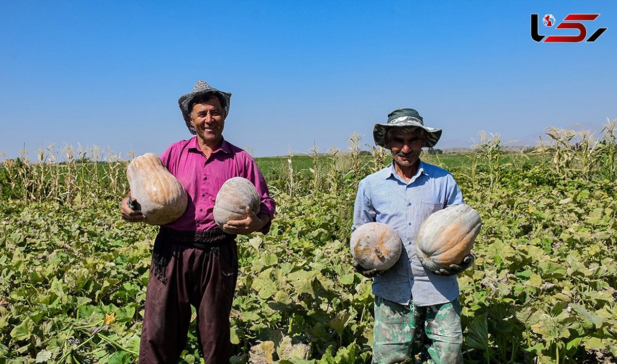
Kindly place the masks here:
POLYGON ((251 181, 243 177, 230 178, 218 191, 213 211, 214 221, 223 228, 227 221, 244 220, 247 217, 247 206, 257 215, 260 204, 259 194, 251 181))

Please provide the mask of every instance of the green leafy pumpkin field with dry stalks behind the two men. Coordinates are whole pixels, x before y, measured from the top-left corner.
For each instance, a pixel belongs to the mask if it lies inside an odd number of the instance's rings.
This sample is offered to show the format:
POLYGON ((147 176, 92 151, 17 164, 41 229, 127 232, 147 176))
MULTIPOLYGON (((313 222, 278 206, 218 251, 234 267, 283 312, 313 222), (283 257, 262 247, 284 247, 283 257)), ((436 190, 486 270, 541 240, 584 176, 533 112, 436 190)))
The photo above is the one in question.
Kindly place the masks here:
MULTIPOLYGON (((552 128, 552 144, 423 154, 478 210, 476 262, 458 277, 466 363, 617 362, 616 120, 552 128)), ((371 281, 351 266, 357 183, 389 152, 257 159, 271 231, 238 238, 233 363, 369 363, 371 281)), ((135 363, 155 226, 125 223, 126 160, 41 151, 0 168, 0 362, 135 363)), ((182 356, 199 363, 194 325, 182 356)))

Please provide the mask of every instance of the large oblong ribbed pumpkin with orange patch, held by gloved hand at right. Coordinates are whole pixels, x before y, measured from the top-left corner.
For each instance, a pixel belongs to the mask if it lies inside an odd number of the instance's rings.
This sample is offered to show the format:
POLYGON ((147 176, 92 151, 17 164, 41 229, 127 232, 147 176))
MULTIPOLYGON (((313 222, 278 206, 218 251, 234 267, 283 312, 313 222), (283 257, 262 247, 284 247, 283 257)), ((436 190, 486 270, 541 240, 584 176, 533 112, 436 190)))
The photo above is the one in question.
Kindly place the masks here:
POLYGON ((469 205, 452 205, 433 212, 418 230, 416 255, 431 271, 460 264, 470 254, 481 225, 479 213, 469 205))

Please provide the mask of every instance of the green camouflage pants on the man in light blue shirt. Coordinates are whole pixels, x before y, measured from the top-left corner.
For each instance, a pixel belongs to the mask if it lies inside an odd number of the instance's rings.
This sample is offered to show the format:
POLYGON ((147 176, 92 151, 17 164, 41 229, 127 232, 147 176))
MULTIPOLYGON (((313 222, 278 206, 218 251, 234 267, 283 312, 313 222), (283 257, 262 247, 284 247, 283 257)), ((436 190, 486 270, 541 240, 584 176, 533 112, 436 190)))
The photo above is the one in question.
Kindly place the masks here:
POLYGON ((375 297, 373 363, 462 363, 458 299, 417 307, 375 297))

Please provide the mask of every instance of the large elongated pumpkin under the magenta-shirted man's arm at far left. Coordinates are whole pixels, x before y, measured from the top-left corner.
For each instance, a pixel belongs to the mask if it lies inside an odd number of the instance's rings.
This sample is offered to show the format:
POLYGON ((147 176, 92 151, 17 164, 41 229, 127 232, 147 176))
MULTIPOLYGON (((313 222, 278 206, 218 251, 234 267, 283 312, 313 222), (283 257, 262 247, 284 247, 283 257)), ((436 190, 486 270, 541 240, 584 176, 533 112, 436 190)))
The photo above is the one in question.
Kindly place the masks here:
POLYGON ((186 210, 186 190, 154 153, 131 160, 126 168, 131 197, 137 199, 144 222, 165 225, 181 217, 186 210))

